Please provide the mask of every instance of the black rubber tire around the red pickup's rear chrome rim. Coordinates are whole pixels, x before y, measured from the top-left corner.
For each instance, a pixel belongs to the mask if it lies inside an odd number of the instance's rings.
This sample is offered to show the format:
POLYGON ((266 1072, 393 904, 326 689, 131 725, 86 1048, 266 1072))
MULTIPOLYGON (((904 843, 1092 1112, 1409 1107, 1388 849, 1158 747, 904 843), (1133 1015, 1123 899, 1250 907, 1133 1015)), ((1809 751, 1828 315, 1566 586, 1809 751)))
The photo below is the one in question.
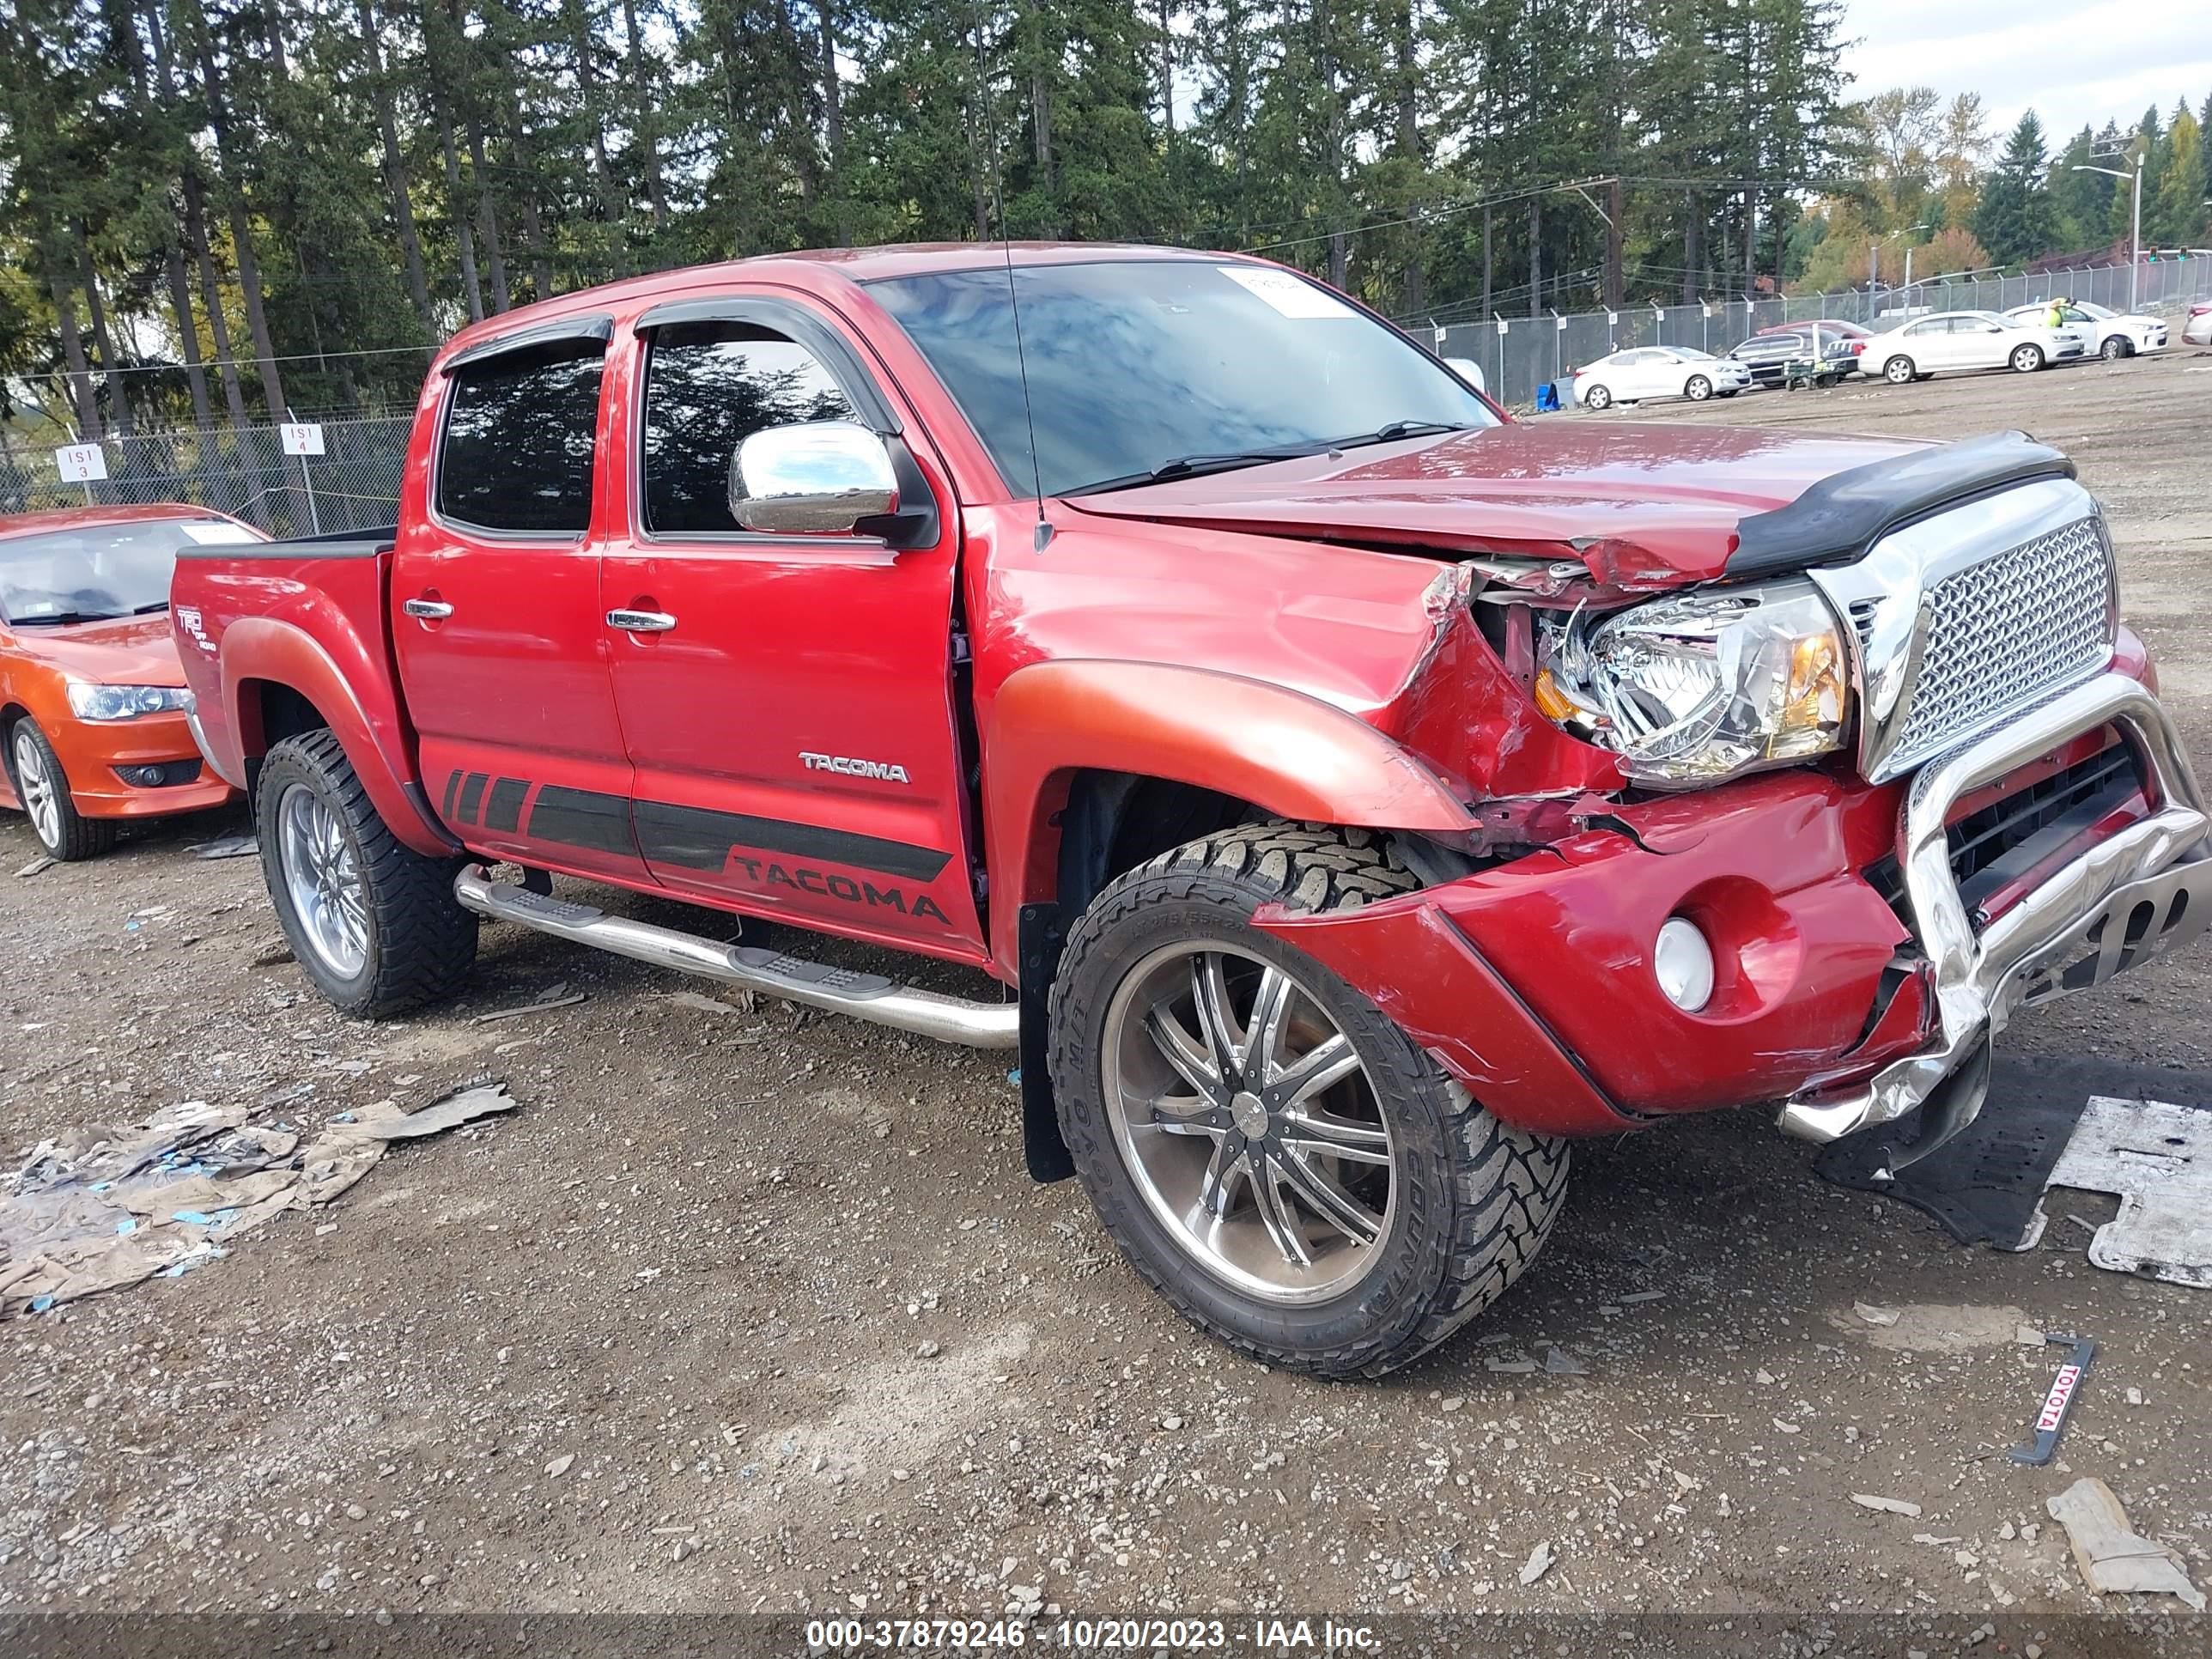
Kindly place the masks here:
MULTIPOLYGON (((361 785, 354 763, 330 730, 288 737, 261 761, 254 821, 261 830, 261 860, 274 902, 279 872, 276 799, 290 765, 307 774, 338 807, 361 854, 363 898, 376 933, 374 973, 352 1000, 332 998, 338 1013, 356 1020, 389 1020, 445 1002, 476 967, 478 918, 453 898, 458 858, 429 858, 400 843, 361 785)), ((283 907, 279 905, 279 918, 283 907)), ((285 933, 290 936, 290 925, 285 933)), ((290 940, 305 967, 301 940, 290 940)), ((325 993, 327 995, 327 993, 325 993)))

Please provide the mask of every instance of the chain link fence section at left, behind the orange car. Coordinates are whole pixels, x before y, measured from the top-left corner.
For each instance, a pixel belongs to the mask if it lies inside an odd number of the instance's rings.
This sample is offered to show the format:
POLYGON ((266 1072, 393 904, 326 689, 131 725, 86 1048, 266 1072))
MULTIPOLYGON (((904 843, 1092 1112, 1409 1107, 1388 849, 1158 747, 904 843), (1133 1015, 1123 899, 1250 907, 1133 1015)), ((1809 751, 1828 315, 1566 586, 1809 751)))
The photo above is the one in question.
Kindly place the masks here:
POLYGON ((0 436, 0 513, 42 507, 197 502, 270 535, 392 524, 411 416, 325 420, 321 456, 283 453, 281 427, 146 431, 100 445, 106 478, 62 482, 53 449, 0 436))

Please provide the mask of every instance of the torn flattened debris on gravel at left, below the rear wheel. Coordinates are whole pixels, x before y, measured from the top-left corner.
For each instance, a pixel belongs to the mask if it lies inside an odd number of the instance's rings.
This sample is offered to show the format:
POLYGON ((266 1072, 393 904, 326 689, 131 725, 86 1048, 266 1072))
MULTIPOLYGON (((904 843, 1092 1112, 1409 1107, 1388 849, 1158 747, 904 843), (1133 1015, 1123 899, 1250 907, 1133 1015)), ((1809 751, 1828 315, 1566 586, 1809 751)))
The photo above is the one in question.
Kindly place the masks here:
MULTIPOLYGON (((0 1318, 175 1279, 285 1210, 330 1203, 398 1139, 438 1135, 515 1099, 500 1082, 416 1113, 380 1099, 312 1137, 252 1106, 184 1102, 131 1128, 71 1128, 0 1177, 0 1318)), ((259 1108, 268 1110, 268 1108, 259 1108)))

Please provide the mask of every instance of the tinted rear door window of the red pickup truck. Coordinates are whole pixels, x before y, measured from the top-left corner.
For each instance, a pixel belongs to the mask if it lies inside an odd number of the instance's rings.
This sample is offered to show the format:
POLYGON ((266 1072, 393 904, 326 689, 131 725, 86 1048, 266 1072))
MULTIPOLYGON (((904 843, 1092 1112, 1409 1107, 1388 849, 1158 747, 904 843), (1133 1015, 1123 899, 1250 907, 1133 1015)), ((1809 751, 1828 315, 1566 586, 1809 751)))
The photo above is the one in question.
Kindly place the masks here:
POLYGON ((560 341, 456 369, 438 513, 487 531, 582 535, 604 363, 604 343, 560 341))

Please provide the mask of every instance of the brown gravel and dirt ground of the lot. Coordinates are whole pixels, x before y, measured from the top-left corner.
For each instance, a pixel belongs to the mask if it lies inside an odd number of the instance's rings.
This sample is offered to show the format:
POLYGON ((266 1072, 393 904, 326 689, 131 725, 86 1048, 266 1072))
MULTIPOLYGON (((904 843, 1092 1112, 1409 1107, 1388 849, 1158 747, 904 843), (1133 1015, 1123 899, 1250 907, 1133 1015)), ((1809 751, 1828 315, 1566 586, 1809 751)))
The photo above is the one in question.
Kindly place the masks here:
MULTIPOLYGON (((2212 763, 2212 354, 1648 418, 2064 445, 2212 763)), ((2095 1597, 2044 1500, 2079 1473, 2212 1584, 2212 1294, 2090 1267, 2064 1219, 2028 1254, 1962 1250, 1818 1181, 1765 1113, 1708 1117, 1579 1148, 1517 1292, 1411 1371, 1316 1385, 1197 1338, 1077 1188, 1029 1183, 1004 1057, 706 1015, 511 927, 458 1006, 347 1024, 254 964, 259 865, 188 856, 228 827, 15 880, 35 845, 0 818, 0 1148, 299 1082, 310 1119, 487 1073, 522 1108, 184 1279, 0 1327, 0 1613, 982 1615, 1022 1586, 1084 1610, 2064 1615, 2095 1597), (560 980, 588 1000, 473 1022, 560 980), (2020 1321, 2104 1343, 2057 1469, 2002 1458, 2055 1363, 2020 1321), (1584 1374, 1546 1371, 1553 1347, 1584 1374), (1522 1586, 1540 1542, 1557 1564, 1522 1586)), ((2006 1053, 2212 1104, 2188 1075, 2208 1006, 2199 949, 2028 1015, 2006 1053)))

